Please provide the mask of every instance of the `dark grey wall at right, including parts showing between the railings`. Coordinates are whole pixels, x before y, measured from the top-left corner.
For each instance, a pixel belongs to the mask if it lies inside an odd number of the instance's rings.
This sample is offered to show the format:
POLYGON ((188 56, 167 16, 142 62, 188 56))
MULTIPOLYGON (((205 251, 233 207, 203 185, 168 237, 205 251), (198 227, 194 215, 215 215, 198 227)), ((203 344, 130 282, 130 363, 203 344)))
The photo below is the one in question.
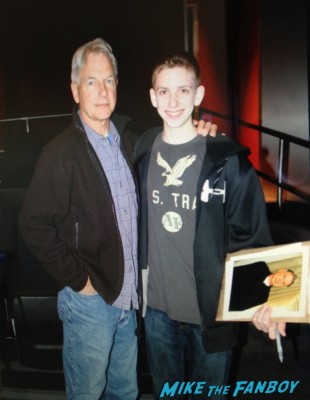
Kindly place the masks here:
MULTIPOLYGON (((261 123, 309 140, 309 0, 261 2, 261 123)), ((277 175, 278 141, 263 137, 267 164, 277 175)), ((310 193, 309 149, 291 145, 283 180, 310 193)), ((294 196, 287 194, 287 200, 294 196)))

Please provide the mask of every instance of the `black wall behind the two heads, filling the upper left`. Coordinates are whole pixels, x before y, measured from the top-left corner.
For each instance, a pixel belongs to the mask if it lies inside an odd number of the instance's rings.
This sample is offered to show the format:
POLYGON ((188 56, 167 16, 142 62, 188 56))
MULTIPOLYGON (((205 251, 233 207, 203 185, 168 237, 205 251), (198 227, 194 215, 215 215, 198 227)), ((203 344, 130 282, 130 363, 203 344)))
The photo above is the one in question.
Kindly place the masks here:
POLYGON ((72 55, 96 37, 119 62, 118 111, 157 121, 151 69, 184 47, 183 0, 1 0, 0 119, 70 112, 72 55))

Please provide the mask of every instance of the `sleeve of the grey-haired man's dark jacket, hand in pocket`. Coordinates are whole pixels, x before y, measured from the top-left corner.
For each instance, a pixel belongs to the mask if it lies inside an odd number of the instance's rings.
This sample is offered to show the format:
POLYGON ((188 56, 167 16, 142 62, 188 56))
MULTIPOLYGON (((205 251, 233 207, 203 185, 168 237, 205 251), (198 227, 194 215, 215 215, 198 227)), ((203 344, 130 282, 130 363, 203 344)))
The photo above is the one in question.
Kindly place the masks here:
POLYGON ((75 249, 77 225, 70 190, 70 171, 63 170, 59 155, 44 150, 24 200, 19 228, 34 257, 60 287, 79 291, 86 284, 89 262, 75 249), (64 225, 72 226, 70 235, 59 228, 64 225))

